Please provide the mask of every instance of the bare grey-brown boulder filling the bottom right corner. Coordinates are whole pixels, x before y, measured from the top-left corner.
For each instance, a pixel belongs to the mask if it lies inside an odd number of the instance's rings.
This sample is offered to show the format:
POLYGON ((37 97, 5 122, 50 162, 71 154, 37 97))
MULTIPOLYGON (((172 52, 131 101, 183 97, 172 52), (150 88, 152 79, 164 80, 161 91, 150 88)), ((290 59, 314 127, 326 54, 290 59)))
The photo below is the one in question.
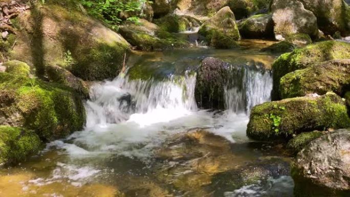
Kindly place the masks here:
POLYGON ((348 196, 350 130, 340 129, 312 141, 292 165, 297 197, 348 196))

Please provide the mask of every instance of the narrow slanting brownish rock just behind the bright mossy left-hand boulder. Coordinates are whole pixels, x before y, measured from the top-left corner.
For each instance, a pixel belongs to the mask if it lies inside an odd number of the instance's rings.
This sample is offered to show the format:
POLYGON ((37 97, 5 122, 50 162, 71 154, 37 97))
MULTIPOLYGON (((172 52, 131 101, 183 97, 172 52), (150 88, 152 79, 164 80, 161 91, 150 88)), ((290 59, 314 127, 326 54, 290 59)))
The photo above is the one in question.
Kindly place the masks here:
POLYGON ((82 79, 74 76, 68 70, 65 70, 57 65, 49 65, 46 68, 46 73, 51 82, 63 84, 71 87, 81 98, 89 99, 89 87, 82 79))

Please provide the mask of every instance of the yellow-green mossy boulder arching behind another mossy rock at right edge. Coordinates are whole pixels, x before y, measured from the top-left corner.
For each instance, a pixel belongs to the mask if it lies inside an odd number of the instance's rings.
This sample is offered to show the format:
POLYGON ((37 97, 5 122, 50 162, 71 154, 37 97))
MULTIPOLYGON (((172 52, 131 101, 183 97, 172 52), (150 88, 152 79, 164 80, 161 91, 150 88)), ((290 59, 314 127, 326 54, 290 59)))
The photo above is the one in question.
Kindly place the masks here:
POLYGON ((280 99, 280 79, 287 73, 308 68, 317 62, 344 58, 350 58, 350 43, 333 40, 317 42, 301 49, 295 49, 292 53, 282 54, 272 64, 272 99, 280 99))

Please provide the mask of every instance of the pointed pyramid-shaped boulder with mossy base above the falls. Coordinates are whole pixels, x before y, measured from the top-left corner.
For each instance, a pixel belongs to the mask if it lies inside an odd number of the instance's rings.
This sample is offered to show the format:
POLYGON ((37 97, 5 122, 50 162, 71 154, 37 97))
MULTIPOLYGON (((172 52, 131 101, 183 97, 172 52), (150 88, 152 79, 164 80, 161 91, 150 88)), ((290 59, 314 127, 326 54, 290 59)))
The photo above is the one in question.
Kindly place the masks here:
POLYGON ((219 10, 201 26, 199 34, 204 36, 209 46, 227 49, 235 47, 240 39, 238 26, 229 7, 219 10))

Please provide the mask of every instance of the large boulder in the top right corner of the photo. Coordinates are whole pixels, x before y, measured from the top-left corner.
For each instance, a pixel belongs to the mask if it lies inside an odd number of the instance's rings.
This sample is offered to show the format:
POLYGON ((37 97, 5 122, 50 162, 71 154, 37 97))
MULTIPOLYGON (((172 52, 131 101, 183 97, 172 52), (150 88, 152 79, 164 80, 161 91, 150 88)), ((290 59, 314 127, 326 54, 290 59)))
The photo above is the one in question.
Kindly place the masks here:
POLYGON ((350 7, 343 0, 300 0, 305 9, 317 17, 317 24, 323 33, 333 35, 339 31, 343 36, 350 34, 350 7))

